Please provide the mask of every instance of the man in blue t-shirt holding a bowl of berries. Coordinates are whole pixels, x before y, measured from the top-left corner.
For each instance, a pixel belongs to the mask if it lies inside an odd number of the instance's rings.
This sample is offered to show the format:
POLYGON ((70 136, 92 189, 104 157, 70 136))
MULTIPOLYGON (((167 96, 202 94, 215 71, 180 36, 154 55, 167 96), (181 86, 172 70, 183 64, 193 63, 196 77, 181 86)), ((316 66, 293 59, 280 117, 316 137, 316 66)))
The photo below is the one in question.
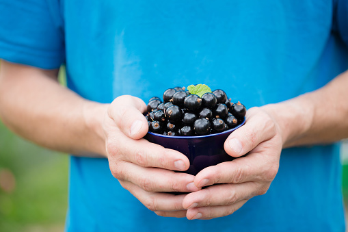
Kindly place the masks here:
POLYGON ((345 231, 330 143, 348 137, 346 9, 0 1, 1 118, 74 154, 67 231, 345 231), (69 89, 56 81, 63 63, 69 89), (142 139, 144 101, 191 83, 250 108, 225 142, 232 157, 248 155, 196 177, 173 172, 189 167, 183 154, 142 139))

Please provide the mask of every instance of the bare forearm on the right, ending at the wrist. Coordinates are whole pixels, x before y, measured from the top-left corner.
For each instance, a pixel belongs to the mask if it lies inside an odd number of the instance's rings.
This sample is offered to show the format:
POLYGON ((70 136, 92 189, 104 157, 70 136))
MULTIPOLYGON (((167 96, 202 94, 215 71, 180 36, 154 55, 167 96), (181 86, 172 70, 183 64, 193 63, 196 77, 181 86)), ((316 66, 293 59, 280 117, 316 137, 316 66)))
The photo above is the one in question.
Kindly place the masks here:
POLYGON ((348 72, 295 99, 266 105, 282 131, 284 147, 327 144, 348 138, 348 72))

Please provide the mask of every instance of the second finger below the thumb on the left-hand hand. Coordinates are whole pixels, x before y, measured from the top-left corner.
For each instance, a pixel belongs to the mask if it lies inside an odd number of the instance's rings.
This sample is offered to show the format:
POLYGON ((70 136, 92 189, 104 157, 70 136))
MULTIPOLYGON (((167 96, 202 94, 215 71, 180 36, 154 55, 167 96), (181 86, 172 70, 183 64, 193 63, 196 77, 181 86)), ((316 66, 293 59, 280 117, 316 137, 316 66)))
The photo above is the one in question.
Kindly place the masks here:
POLYGON ((122 162, 111 169, 113 177, 135 183, 146 192, 194 192, 200 190, 193 183, 194 176, 161 168, 144 168, 122 162))

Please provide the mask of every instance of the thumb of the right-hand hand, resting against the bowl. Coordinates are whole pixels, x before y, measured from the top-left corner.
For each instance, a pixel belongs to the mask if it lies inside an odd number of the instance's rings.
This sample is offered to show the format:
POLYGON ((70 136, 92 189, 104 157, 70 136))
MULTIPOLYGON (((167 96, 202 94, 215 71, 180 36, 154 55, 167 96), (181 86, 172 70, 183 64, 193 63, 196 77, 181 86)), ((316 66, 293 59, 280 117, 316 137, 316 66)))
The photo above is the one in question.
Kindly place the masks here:
POLYGON ((275 134, 276 126, 271 117, 262 109, 253 107, 247 111, 245 125, 228 136, 224 149, 228 155, 240 157, 275 134))

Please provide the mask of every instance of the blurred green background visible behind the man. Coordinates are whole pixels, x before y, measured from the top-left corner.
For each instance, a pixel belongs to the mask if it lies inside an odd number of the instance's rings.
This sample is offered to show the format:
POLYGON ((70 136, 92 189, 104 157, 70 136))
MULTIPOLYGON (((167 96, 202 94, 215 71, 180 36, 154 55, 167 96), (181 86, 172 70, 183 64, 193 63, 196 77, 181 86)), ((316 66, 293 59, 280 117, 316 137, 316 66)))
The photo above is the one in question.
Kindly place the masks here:
MULTIPOLYGON (((341 155, 347 207, 348 142, 341 155)), ((64 231, 67 193, 68 155, 18 138, 0 120, 0 231, 64 231)))

